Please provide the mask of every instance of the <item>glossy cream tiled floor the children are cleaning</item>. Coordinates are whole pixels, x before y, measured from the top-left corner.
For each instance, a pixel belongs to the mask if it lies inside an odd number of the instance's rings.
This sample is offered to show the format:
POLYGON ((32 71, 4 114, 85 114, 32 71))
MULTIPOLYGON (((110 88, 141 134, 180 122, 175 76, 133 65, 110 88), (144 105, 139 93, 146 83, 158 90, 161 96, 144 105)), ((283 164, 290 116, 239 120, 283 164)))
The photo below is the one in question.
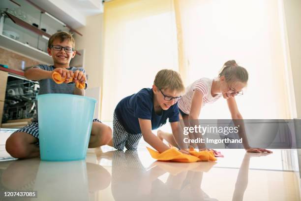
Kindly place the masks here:
POLYGON ((2 161, 0 187, 36 190, 32 201, 300 201, 296 162, 287 157, 295 151, 220 151, 217 162, 191 164, 156 162, 144 143, 138 151, 90 149, 86 161, 2 161))

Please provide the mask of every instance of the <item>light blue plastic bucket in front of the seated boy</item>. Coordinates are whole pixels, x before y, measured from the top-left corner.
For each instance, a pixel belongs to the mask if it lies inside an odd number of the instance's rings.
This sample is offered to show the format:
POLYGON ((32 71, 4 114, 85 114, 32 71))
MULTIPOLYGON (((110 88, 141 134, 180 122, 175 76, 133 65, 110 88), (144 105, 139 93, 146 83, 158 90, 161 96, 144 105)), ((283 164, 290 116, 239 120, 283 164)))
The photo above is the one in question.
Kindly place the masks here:
POLYGON ((96 100, 69 94, 39 95, 37 100, 41 160, 85 159, 96 100))

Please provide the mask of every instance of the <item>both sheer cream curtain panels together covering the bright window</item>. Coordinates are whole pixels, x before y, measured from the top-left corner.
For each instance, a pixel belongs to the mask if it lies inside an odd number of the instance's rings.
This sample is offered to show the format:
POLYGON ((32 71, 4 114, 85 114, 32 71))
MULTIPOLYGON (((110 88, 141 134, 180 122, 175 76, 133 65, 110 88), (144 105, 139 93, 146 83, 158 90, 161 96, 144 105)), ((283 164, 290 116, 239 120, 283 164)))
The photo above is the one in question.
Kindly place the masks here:
MULTIPOLYGON (((179 70, 185 85, 214 78, 227 60, 249 72, 237 97, 246 119, 290 119, 281 0, 112 0, 104 6, 101 118, 151 87, 162 68, 179 70)), ((220 99, 200 118, 230 118, 220 99)))

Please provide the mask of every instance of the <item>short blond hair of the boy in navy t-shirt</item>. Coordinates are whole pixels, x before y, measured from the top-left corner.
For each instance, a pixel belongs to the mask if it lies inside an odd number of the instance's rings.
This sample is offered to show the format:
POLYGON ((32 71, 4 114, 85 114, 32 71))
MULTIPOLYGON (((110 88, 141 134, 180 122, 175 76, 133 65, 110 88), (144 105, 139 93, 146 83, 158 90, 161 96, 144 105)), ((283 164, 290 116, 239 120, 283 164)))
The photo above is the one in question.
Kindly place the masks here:
POLYGON ((185 91, 180 73, 170 69, 160 70, 156 74, 153 84, 159 89, 169 89, 179 93, 185 91))

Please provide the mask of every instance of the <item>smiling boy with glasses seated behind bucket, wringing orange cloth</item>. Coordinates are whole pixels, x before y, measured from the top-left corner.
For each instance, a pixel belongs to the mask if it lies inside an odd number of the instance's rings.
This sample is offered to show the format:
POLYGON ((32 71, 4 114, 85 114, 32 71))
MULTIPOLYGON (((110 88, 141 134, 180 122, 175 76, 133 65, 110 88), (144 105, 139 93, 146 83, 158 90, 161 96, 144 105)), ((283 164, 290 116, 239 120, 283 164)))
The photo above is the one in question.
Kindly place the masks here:
MULTIPOLYGON (((88 84, 84 68, 69 66, 71 59, 76 54, 74 47, 75 40, 69 33, 58 32, 49 38, 47 51, 52 57, 54 65, 37 65, 25 72, 26 78, 39 82, 39 95, 57 93, 85 96, 85 89, 88 84), (65 81, 57 84, 53 80, 54 73, 59 73, 65 81), (71 78, 73 78, 73 81, 69 82, 71 78), (75 84, 78 83, 81 83, 81 86, 85 86, 85 89, 75 87, 75 84)), ((93 119, 89 148, 105 145, 111 139, 111 128, 101 123, 98 119, 93 119)), ((38 141, 39 131, 36 115, 33 117, 31 124, 9 136, 6 140, 5 148, 15 158, 33 158, 40 154, 38 141)))

